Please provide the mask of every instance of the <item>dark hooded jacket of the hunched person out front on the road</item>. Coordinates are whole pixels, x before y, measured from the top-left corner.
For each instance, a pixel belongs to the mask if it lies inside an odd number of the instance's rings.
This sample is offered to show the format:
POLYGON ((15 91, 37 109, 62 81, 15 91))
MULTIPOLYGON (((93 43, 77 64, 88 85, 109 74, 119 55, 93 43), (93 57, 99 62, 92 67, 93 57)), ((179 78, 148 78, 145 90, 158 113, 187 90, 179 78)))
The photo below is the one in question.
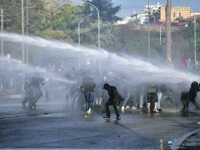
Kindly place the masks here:
POLYGON ((117 88, 115 86, 111 86, 108 83, 104 84, 104 89, 108 91, 108 95, 110 96, 109 102, 112 104, 120 103, 124 99, 117 91, 117 88))

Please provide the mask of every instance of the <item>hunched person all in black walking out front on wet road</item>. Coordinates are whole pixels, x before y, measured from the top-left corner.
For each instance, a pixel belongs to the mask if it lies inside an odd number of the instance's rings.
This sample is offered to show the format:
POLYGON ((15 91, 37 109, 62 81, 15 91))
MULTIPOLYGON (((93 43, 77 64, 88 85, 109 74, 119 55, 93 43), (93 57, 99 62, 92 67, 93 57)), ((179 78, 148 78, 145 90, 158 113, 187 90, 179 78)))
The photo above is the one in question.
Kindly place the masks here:
POLYGON ((118 110, 118 106, 120 105, 120 102, 123 101, 124 99, 122 96, 119 94, 117 91, 117 88, 115 86, 111 86, 108 83, 105 83, 103 86, 103 89, 107 90, 109 97, 109 100, 105 103, 106 107, 106 116, 104 118, 110 118, 110 109, 109 106, 113 105, 115 114, 116 114, 116 119, 120 120, 120 114, 118 110))

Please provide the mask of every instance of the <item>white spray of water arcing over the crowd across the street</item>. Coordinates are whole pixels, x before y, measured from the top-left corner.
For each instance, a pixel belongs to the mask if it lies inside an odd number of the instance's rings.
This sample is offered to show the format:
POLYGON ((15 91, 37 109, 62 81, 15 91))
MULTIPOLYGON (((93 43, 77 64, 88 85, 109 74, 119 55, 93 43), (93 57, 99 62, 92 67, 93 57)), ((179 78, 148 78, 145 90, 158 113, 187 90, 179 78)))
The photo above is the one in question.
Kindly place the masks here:
MULTIPOLYGON (((66 68, 67 71, 69 71, 69 69, 74 66, 78 68, 76 70, 79 70, 80 74, 88 73, 93 76, 96 82, 99 83, 99 88, 102 88, 102 82, 109 82, 110 84, 117 86, 121 91, 127 89, 129 93, 138 91, 139 89, 145 89, 151 83, 170 85, 172 88, 175 88, 181 83, 187 83, 189 85, 192 81, 200 81, 197 75, 190 72, 178 71, 167 65, 155 65, 151 62, 128 55, 123 55, 122 57, 104 49, 86 48, 59 41, 45 40, 40 37, 22 36, 13 33, 0 33, 0 38, 9 44, 28 44, 30 49, 29 53, 31 53, 30 55, 34 54, 33 52, 35 51, 45 54, 40 55, 40 58, 37 58, 37 63, 41 66, 44 64, 47 66, 48 63, 51 64, 52 61, 59 57, 59 60, 57 60, 55 64, 57 63, 57 66, 61 66, 62 71, 51 74, 45 71, 44 76, 68 84, 74 82, 77 83, 81 78, 81 75, 79 75, 79 79, 74 81, 73 79, 66 79, 63 76, 66 74, 66 68), (44 62, 44 60, 49 61, 44 62)), ((12 59, 12 61, 12 64, 17 62, 17 60, 14 59, 12 59)), ((8 63, 7 65, 7 68, 9 68, 11 63, 8 63)), ((19 68, 26 72, 37 71, 33 66, 23 63, 20 65, 19 68)), ((39 70, 39 72, 41 72, 41 70, 39 70)), ((77 84, 77 86, 79 85, 77 84)), ((184 86, 178 88, 185 88, 184 86)), ((70 92, 70 90, 68 90, 68 92, 70 92)))

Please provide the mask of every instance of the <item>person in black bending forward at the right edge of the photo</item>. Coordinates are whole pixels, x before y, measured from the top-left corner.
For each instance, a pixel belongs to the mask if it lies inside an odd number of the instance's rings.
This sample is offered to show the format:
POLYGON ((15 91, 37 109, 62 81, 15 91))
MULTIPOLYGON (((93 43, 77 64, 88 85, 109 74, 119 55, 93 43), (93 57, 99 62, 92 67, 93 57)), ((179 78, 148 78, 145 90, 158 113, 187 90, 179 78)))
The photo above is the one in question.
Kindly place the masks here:
POLYGON ((196 109, 200 109, 200 105, 195 100, 198 91, 200 91, 200 84, 198 84, 198 82, 196 81, 193 81, 190 86, 189 92, 181 93, 181 102, 183 104, 182 112, 184 114, 187 114, 189 111, 190 101, 196 106, 196 109))

